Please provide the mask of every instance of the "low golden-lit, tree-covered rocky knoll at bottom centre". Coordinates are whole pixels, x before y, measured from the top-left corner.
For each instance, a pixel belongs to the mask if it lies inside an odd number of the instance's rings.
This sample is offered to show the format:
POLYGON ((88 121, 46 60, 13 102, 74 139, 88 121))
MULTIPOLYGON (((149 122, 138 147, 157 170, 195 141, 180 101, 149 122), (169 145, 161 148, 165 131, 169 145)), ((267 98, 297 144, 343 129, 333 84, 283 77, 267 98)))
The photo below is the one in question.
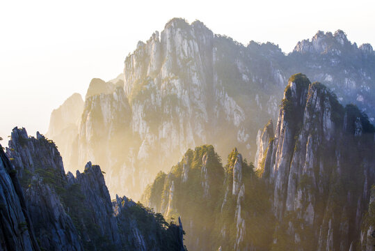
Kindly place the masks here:
POLYGON ((159 173, 142 201, 167 219, 181 215, 189 250, 267 250, 273 216, 264 185, 237 149, 223 167, 214 147, 205 145, 159 173))

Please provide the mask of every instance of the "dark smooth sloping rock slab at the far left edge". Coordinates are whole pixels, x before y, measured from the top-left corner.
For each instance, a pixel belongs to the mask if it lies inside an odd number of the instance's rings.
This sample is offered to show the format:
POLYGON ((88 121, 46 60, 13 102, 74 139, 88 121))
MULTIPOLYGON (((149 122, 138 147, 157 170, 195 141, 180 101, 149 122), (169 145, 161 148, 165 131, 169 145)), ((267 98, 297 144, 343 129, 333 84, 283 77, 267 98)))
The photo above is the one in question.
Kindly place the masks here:
POLYGON ((40 250, 16 171, 0 145, 0 250, 40 250))

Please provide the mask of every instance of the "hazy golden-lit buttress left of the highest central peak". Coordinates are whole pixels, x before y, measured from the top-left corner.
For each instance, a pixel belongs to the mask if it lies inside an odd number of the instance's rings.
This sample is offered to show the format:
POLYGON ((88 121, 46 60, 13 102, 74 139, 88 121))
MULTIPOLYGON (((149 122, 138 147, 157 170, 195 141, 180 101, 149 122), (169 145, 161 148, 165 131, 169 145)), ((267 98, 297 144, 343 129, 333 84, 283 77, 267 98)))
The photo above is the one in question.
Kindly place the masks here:
POLYGON ((88 161, 101 164, 107 174, 106 183, 111 184, 113 191, 125 189, 129 192, 129 187, 145 183, 147 174, 139 175, 134 167, 134 149, 141 142, 132 132, 130 121, 131 107, 122 88, 117 87, 113 93, 90 96, 82 114, 76 158, 68 161, 74 167, 88 161))

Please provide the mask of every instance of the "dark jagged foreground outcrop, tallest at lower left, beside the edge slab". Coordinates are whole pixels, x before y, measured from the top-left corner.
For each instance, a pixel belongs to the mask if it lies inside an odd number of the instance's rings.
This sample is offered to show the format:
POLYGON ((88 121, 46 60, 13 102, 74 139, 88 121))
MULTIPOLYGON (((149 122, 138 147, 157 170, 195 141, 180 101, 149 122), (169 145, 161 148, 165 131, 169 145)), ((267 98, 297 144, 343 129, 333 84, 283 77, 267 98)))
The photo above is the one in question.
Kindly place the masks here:
POLYGON ((65 171, 54 143, 39 132, 35 139, 29 138, 24 128, 15 128, 8 145, 7 155, 17 170, 26 208, 42 248, 83 250, 77 229, 63 207, 65 171))

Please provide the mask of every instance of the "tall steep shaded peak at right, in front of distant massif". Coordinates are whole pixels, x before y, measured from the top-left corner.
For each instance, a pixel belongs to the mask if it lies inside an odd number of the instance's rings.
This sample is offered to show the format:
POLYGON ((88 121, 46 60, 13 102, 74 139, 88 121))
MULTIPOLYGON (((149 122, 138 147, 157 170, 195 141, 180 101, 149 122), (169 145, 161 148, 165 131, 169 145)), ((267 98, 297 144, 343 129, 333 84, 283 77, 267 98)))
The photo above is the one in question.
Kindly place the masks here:
POLYGON ((301 74, 289 79, 262 164, 281 222, 275 245, 349 250, 358 243, 375 183, 374 131, 365 114, 342 107, 324 85, 301 74), (358 127, 366 129, 358 134, 358 127))

